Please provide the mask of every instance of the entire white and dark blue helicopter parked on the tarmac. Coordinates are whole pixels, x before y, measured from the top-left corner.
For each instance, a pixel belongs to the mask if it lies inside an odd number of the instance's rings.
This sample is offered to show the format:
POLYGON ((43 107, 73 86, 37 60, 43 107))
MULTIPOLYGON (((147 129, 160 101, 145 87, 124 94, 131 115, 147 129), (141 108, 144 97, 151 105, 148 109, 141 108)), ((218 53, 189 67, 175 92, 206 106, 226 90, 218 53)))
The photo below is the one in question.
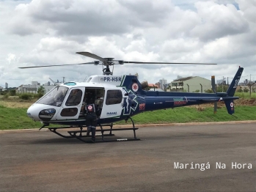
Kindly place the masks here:
MULTIPOLYGON (((114 60, 114 58, 103 58, 89 52, 77 52, 83 56, 97 59, 94 62, 81 64, 102 64, 103 75, 91 75, 85 82, 65 82, 55 86, 50 92, 46 93, 37 100, 27 110, 27 116, 34 121, 40 121, 43 126, 65 125, 64 127, 48 128, 64 138, 76 138, 86 142, 84 135, 86 126, 87 111, 84 109, 88 103, 94 103, 97 114, 97 126, 100 129, 101 140, 99 141, 131 141, 140 140, 136 137, 134 121, 131 117, 145 111, 155 111, 166 108, 176 108, 183 106, 193 106, 203 103, 217 103, 223 101, 228 114, 234 114, 235 89, 241 78, 244 68, 239 67, 231 82, 227 92, 214 93, 195 93, 195 92, 154 92, 145 91, 147 84, 140 83, 136 75, 113 75, 109 66, 114 64, 206 64, 206 63, 173 63, 173 62, 128 62, 123 60, 114 60), (114 122, 131 119, 131 128, 113 128, 114 122), (103 128, 109 126, 109 129, 103 128), (63 128, 78 128, 78 130, 68 130, 67 135, 59 132, 63 128), (114 130, 133 130, 134 138, 106 140, 104 136, 114 136, 114 130), (109 131, 109 134, 104 134, 109 131)), ((74 64, 57 64, 19 68, 34 67, 54 67, 74 64)), ((98 139, 96 140, 98 141, 98 139)))

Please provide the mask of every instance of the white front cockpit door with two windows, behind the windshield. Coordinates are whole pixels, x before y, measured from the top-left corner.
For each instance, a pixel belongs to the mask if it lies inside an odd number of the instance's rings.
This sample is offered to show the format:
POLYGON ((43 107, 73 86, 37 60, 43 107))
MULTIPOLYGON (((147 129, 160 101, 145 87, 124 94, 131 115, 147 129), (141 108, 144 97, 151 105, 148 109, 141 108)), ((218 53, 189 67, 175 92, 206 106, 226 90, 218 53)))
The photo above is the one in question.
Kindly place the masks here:
POLYGON ((81 106, 82 98, 84 98, 84 87, 76 87, 70 89, 68 97, 62 103, 62 106, 57 114, 56 119, 78 119, 81 106))

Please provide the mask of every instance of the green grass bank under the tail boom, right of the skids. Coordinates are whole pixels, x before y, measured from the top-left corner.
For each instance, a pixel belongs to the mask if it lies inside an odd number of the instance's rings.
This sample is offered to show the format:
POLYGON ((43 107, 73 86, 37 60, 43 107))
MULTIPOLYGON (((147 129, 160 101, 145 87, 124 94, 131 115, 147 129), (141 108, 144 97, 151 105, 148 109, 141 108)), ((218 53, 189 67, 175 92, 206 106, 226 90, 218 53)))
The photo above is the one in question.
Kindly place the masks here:
POLYGON ((237 106, 235 116, 227 113, 225 107, 218 108, 217 113, 213 114, 213 108, 205 108, 198 111, 197 108, 175 108, 160 111, 145 112, 135 116, 136 124, 145 123, 172 123, 172 122, 227 122, 256 120, 256 106, 237 106))

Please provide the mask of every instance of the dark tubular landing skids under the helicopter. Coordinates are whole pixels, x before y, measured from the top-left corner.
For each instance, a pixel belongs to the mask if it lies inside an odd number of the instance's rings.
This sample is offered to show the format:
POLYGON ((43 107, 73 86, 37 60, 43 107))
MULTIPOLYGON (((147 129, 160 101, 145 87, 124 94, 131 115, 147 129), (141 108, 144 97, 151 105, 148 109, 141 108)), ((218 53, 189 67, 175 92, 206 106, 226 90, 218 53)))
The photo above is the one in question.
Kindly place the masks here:
MULTIPOLYGON (((131 117, 128 117, 128 119, 131 119, 131 117)), ((125 120, 125 122, 127 122, 127 120, 125 120)), ((113 124, 111 123, 110 125, 98 125, 98 127, 100 127, 100 129, 96 129, 96 132, 101 132, 101 134, 96 134, 96 138, 95 138, 95 142, 110 142, 110 141, 138 141, 140 139, 136 138, 136 130, 138 130, 139 128, 135 128, 134 126, 134 121, 133 119, 131 119, 132 128, 114 128, 113 129, 113 124), (109 129, 103 129, 103 127, 110 127, 109 129), (134 130, 134 138, 129 138, 129 139, 107 139, 105 140, 105 136, 114 136, 114 134, 112 133, 112 131, 114 130, 134 130), (109 131, 108 134, 104 134, 105 131, 109 131), (101 136, 101 140, 97 139, 98 137, 101 136)), ((43 125, 42 128, 45 128, 48 125, 43 125)), ((40 128, 40 129, 42 129, 40 128)), ((87 136, 87 130, 83 130, 83 128, 87 128, 87 126, 80 126, 80 130, 68 130, 67 133, 69 133, 69 135, 65 136, 62 133, 59 133, 57 130, 61 130, 61 129, 73 129, 72 127, 61 127, 61 128, 48 128, 49 130, 51 130, 51 132, 57 134, 58 136, 61 136, 63 138, 69 139, 69 138, 76 138, 80 141, 83 141, 85 143, 88 143, 87 139, 85 140, 84 138, 91 138, 91 136, 87 136), (85 134, 84 134, 85 133, 85 134)), ((89 141, 92 142, 92 141, 89 141)))

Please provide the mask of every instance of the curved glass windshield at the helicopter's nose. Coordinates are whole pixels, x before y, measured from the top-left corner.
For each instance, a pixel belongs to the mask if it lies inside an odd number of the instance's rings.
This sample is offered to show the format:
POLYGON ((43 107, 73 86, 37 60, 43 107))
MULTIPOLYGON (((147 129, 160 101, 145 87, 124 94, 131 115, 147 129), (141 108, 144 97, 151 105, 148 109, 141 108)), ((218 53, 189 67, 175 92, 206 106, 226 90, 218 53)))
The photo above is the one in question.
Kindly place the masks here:
POLYGON ((45 96, 43 96, 37 103, 50 105, 50 106, 61 106, 62 102, 67 94, 68 88, 65 86, 56 86, 45 96))

